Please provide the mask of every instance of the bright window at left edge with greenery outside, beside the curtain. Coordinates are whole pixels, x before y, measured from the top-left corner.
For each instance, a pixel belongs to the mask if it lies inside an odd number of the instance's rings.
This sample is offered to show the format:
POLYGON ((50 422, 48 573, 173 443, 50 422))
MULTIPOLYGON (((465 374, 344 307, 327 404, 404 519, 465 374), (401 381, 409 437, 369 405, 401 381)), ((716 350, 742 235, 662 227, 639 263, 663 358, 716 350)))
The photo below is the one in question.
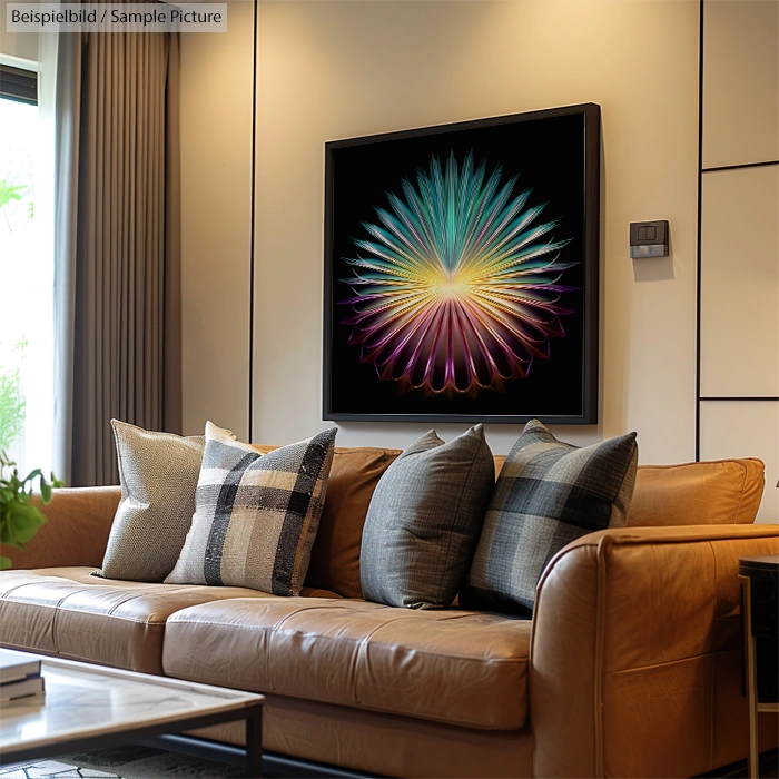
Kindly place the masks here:
POLYGON ((39 129, 37 75, 0 63, 0 450, 20 471, 51 465, 53 267, 36 214, 39 129))

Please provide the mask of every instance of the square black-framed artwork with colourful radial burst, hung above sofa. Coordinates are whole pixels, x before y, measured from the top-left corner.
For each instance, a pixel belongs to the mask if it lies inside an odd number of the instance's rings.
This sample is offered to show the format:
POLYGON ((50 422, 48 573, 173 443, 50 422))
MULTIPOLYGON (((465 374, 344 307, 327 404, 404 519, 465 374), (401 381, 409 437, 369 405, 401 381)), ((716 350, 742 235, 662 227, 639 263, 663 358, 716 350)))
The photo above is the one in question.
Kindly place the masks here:
POLYGON ((325 146, 325 420, 598 421, 600 107, 325 146))

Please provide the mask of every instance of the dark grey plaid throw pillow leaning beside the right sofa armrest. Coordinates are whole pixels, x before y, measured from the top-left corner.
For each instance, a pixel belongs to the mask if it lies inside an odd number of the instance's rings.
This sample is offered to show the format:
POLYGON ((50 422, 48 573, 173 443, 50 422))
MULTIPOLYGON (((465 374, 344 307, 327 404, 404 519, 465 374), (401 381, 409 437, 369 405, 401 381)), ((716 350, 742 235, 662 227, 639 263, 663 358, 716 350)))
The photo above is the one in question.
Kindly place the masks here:
POLYGON ((535 585, 563 546, 624 526, 638 457, 635 433, 578 448, 529 422, 495 484, 460 602, 466 609, 532 611, 535 585))

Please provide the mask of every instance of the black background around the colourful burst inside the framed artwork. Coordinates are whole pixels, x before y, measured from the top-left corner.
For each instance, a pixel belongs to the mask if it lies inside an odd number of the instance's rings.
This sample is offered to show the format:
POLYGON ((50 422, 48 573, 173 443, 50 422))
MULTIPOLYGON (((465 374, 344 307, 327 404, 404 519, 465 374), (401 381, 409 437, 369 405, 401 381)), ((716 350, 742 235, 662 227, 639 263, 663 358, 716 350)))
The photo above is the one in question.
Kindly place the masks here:
MULTIPOLYGON (((436 132, 379 142, 344 146, 333 154, 333 339, 331 411, 334 414, 580 416, 583 413, 584 351, 584 116, 572 114, 531 121, 436 132), (565 337, 551 341, 551 357, 535 359, 530 375, 504 384, 504 392, 481 389, 475 397, 398 392, 396 382, 378 378, 372 363, 361 363, 359 346, 349 346, 352 328, 341 324, 352 308, 338 303, 353 296, 341 279, 354 275, 343 257, 356 256, 353 238, 365 238, 363 221, 376 223, 374 208, 391 210, 386 193, 403 196, 401 181, 416 187, 416 169, 430 170, 433 154, 442 165, 454 151, 458 166, 469 151, 487 159, 487 175, 501 165, 502 184, 519 174, 514 194, 527 187, 527 206, 548 201, 541 220, 561 217, 551 235, 570 238, 561 259, 579 264, 562 283, 579 287, 561 303, 575 310, 562 317, 565 337)), ((325 366, 327 369, 328 366, 325 366)))

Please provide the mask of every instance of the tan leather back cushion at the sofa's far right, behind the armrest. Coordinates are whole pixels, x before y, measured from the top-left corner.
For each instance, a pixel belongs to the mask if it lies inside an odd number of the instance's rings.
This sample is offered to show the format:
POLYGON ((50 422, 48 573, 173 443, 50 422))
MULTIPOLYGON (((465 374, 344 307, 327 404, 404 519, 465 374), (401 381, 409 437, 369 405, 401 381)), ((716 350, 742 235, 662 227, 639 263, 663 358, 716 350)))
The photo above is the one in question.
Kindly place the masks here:
POLYGON ((761 460, 641 465, 629 527, 755 522, 766 483, 761 460))

